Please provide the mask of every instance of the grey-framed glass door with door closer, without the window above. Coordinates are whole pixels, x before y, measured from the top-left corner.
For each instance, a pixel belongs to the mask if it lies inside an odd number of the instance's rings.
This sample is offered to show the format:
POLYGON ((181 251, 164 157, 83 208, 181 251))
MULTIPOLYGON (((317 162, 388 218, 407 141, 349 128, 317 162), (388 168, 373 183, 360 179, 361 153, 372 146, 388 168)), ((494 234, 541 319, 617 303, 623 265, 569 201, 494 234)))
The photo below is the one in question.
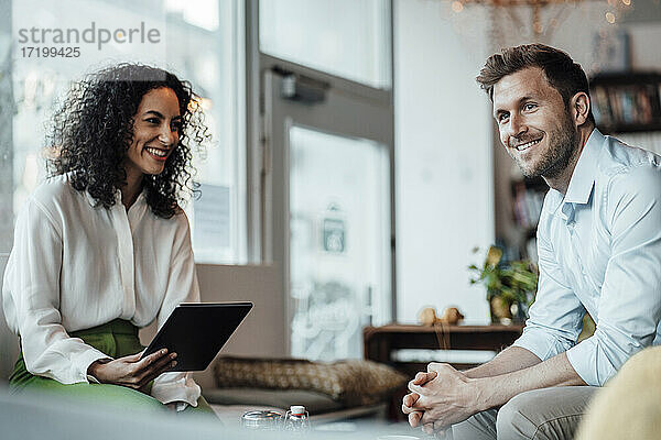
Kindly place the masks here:
POLYGON ((289 351, 361 358, 362 327, 393 312, 391 107, 277 68, 263 85, 266 252, 283 271, 289 351))

